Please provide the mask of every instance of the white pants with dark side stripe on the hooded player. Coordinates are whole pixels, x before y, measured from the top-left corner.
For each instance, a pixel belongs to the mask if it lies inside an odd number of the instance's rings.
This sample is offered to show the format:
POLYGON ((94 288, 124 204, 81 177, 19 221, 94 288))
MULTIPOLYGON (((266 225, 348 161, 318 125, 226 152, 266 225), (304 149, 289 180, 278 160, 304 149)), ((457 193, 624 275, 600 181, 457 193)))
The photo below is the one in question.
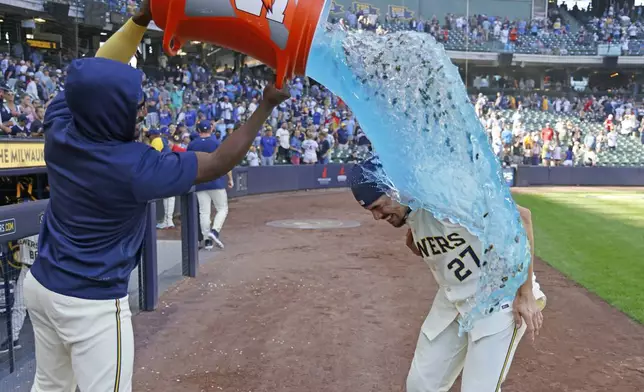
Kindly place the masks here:
POLYGON ((34 327, 31 392, 131 392, 134 334, 128 297, 87 300, 54 293, 31 273, 25 300, 34 327))

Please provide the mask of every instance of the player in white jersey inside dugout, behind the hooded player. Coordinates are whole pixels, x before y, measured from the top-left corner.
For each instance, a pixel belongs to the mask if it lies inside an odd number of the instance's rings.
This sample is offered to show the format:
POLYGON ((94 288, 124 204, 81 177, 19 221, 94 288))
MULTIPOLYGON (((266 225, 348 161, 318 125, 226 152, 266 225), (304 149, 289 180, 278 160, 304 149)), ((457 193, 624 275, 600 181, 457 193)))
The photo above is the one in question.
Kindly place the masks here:
POLYGON ((9 345, 13 342, 13 348, 19 349, 22 346, 20 345, 20 330, 25 324, 25 318, 27 317, 27 307, 25 305, 25 296, 23 285, 25 282, 25 277, 29 268, 36 260, 38 255, 38 236, 32 235, 27 238, 22 238, 18 240, 16 247, 13 250, 13 260, 18 263, 20 267, 20 274, 18 275, 18 280, 15 285, 14 296, 13 296, 13 308, 11 311, 11 338, 9 337, 0 344, 0 353, 6 353, 9 351, 9 345))

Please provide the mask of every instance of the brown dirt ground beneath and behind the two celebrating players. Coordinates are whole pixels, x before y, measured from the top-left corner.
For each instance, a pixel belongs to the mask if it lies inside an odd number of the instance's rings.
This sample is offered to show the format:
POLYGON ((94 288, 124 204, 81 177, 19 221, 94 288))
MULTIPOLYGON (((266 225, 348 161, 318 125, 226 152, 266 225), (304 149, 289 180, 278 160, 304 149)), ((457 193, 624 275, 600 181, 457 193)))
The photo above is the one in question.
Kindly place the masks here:
MULTIPOLYGON (((222 235, 198 278, 134 318, 134 391, 403 391, 436 290, 403 230, 329 191, 231 201, 222 235), (307 218, 362 226, 266 226, 307 218)), ((503 392, 644 390, 644 328, 544 263, 536 273, 545 329, 503 392)))

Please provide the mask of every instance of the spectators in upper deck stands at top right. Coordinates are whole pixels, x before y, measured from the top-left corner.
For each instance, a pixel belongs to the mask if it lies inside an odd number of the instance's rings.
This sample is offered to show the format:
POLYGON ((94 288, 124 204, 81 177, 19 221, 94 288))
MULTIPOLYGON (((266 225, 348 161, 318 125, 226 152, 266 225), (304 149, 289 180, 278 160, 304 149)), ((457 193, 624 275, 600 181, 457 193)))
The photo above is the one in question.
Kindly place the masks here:
MULTIPOLYGON (((550 4, 546 18, 516 19, 476 14, 448 14, 443 19, 402 19, 390 15, 384 18, 347 11, 338 22, 351 29, 374 30, 379 34, 390 31, 413 30, 434 36, 450 50, 508 51, 528 54, 590 55, 597 53, 597 44, 613 43, 623 55, 644 52, 643 7, 630 7, 626 2, 609 6, 602 17, 591 17, 589 10, 576 6, 570 13, 567 7, 550 4), (574 25, 569 15, 579 21, 574 25), (584 25, 585 24, 585 25, 584 25)), ((464 10, 465 11, 465 10, 464 10)))

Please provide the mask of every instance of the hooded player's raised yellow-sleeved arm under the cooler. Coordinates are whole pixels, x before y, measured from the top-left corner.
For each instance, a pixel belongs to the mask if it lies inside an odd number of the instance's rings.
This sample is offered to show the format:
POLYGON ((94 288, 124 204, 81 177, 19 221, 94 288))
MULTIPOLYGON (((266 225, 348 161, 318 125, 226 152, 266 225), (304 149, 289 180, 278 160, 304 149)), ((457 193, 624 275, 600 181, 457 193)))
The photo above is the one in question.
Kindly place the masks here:
POLYGON ((96 52, 96 57, 107 58, 128 64, 136 54, 136 48, 143 39, 152 21, 149 0, 144 0, 141 9, 128 20, 110 39, 96 52))

